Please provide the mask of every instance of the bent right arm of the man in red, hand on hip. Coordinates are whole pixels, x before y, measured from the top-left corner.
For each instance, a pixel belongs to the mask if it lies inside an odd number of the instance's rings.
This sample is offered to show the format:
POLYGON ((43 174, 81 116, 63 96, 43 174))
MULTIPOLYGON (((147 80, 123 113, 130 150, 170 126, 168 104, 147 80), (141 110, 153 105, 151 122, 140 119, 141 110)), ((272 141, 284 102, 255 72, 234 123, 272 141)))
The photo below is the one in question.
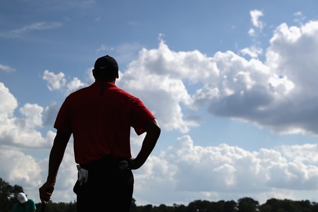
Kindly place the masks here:
POLYGON ((147 134, 137 157, 129 161, 131 169, 139 169, 146 162, 157 143, 161 131, 157 119, 152 119, 146 123, 143 129, 145 129, 147 134))

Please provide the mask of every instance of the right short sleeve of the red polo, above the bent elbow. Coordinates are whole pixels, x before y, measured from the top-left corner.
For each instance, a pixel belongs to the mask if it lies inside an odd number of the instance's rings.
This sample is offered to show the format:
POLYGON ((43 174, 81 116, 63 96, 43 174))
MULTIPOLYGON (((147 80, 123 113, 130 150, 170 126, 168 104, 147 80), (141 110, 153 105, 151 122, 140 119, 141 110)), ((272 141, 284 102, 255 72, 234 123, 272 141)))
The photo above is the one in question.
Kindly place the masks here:
POLYGON ((137 135, 141 135, 145 132, 143 127, 147 122, 154 119, 153 113, 136 98, 131 108, 131 126, 135 129, 137 135))

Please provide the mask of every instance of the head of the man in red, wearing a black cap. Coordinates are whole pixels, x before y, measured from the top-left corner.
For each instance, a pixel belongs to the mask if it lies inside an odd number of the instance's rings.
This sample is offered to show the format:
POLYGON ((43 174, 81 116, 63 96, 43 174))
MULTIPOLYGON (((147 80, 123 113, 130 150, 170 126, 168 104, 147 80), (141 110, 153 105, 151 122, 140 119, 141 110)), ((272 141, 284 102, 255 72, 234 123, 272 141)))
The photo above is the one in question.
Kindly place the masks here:
POLYGON ((112 82, 118 79, 118 64, 113 57, 108 55, 95 61, 93 76, 96 81, 112 82))

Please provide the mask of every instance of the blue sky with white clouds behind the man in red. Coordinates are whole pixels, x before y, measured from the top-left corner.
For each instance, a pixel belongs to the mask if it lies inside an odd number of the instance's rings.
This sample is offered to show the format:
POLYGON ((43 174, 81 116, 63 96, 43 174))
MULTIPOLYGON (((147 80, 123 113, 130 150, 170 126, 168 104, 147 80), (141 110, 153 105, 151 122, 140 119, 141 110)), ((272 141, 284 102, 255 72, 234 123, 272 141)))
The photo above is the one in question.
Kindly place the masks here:
MULTIPOLYGON (((95 59, 162 128, 137 205, 318 201, 315 0, 0 0, 0 177, 39 202, 57 111, 95 59)), ((132 154, 143 136, 132 133, 132 154)), ((54 202, 76 199, 70 141, 54 202)))

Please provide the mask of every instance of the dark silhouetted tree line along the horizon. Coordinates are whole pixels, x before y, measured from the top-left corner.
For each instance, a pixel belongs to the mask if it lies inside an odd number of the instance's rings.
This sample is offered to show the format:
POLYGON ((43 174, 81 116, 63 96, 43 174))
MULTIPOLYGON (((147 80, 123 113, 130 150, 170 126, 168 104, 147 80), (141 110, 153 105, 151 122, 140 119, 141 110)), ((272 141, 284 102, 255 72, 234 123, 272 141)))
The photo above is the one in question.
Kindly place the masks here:
MULTIPOLYGON (((16 195, 23 192, 23 188, 18 185, 11 186, 0 178, 0 212, 11 212, 13 205, 17 202, 16 195)), ((41 210, 41 203, 36 203, 37 212, 41 210)), ((46 206, 46 212, 76 212, 76 202, 53 203, 46 206)), ((293 201, 269 199, 264 204, 249 197, 240 198, 238 201, 218 201, 196 200, 187 206, 173 204, 166 206, 145 205, 137 206, 133 199, 131 212, 318 212, 318 203, 309 200, 293 201)))

